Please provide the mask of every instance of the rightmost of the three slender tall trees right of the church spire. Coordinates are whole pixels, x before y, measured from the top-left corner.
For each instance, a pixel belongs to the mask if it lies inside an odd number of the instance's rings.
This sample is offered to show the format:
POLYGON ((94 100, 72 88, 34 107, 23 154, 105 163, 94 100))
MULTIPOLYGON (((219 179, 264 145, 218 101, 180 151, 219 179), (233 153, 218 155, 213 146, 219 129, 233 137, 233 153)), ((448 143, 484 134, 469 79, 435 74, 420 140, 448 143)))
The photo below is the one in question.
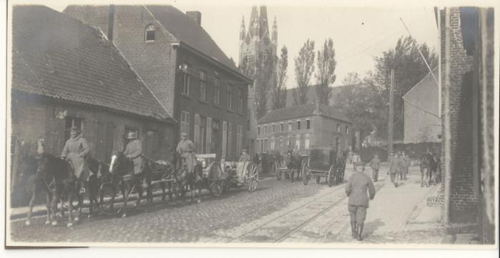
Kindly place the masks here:
POLYGON ((318 58, 316 60, 318 65, 318 72, 316 79, 316 94, 318 95, 319 103, 328 105, 328 100, 331 95, 331 86, 334 84, 335 76, 335 49, 333 39, 326 39, 323 44, 323 50, 318 51, 318 58))

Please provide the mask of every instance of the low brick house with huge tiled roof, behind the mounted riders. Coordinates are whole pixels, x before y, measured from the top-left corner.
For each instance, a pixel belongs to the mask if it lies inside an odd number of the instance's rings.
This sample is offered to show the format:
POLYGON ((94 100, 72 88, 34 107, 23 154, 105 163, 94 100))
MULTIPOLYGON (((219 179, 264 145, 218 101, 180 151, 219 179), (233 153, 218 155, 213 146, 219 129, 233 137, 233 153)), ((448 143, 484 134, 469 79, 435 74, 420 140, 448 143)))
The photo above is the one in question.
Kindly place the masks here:
POLYGON ((12 28, 13 185, 21 154, 44 139, 59 156, 71 126, 105 162, 129 131, 146 156, 169 158, 174 120, 101 31, 45 6, 14 6, 12 28))

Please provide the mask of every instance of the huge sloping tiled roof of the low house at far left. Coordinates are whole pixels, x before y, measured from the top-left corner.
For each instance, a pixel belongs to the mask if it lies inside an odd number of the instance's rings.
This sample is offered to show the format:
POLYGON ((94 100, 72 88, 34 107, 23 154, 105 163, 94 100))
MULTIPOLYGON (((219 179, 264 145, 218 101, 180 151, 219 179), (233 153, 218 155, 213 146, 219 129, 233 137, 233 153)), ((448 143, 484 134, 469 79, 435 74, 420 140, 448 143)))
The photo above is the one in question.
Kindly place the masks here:
POLYGON ((46 6, 14 6, 12 89, 171 117, 101 31, 46 6))

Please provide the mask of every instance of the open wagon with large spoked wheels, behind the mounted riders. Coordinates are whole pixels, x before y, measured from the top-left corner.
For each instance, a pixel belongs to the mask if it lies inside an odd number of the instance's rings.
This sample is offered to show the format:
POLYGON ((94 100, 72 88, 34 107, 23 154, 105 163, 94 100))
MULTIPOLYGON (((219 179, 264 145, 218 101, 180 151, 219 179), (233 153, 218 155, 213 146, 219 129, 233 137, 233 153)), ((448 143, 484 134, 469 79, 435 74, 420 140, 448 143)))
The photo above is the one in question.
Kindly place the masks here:
POLYGON ((254 192, 259 183, 259 172, 254 162, 224 162, 216 161, 216 154, 197 154, 196 161, 201 166, 202 180, 214 197, 224 190, 245 187, 254 192), (244 171, 244 183, 239 182, 238 169, 244 171))

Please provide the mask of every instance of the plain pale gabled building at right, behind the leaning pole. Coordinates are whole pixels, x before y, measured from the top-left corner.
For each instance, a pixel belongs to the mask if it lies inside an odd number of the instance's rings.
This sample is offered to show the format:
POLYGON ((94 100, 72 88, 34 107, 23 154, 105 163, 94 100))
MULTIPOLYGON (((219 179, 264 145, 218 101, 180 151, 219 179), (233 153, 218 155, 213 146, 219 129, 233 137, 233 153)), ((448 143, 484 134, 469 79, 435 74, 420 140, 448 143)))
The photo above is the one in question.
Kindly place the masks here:
MULTIPOLYGON (((434 75, 438 77, 437 69, 434 75)), ((404 99, 404 142, 441 142, 439 86, 431 73, 415 84, 404 99)))

